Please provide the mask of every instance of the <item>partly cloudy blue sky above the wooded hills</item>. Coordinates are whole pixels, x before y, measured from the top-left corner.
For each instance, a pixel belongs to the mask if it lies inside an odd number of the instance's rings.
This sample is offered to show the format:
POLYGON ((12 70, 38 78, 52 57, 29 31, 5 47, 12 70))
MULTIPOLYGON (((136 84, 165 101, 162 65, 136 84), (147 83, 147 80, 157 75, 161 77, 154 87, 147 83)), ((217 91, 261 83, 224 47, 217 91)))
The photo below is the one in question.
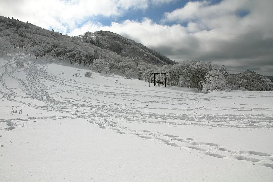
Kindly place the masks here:
POLYGON ((80 35, 105 30, 172 60, 273 76, 273 0, 1 0, 0 16, 80 35))

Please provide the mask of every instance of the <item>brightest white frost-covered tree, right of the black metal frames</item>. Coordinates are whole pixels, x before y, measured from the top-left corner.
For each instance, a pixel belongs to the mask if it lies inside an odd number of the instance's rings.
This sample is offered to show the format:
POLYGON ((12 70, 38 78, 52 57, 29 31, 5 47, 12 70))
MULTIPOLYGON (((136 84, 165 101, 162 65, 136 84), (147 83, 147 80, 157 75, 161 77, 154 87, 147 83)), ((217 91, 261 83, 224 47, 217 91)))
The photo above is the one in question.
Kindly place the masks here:
POLYGON ((209 71, 206 74, 205 82, 202 86, 203 93, 210 93, 214 90, 225 90, 227 89, 225 74, 219 69, 209 71))

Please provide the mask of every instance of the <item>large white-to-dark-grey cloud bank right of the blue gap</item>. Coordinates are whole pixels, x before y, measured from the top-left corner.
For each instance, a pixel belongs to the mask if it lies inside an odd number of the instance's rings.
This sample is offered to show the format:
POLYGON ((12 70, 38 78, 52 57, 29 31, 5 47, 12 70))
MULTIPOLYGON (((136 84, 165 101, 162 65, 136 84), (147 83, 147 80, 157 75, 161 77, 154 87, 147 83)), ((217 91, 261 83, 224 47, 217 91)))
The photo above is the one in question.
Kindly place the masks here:
POLYGON ((216 5, 207 1, 189 2, 182 8, 183 11, 174 10, 175 16, 168 16, 170 21, 187 20, 186 27, 180 24, 157 24, 144 18, 140 22, 113 22, 110 26, 88 22, 77 31, 71 32, 71 35, 82 34, 86 30, 112 31, 156 49, 176 61, 213 61, 219 65, 225 64, 232 72, 252 69, 272 75, 271 7, 273 1, 270 0, 264 0, 263 3, 225 0, 216 5), (247 10, 249 14, 240 17, 237 15, 240 10, 247 10))

